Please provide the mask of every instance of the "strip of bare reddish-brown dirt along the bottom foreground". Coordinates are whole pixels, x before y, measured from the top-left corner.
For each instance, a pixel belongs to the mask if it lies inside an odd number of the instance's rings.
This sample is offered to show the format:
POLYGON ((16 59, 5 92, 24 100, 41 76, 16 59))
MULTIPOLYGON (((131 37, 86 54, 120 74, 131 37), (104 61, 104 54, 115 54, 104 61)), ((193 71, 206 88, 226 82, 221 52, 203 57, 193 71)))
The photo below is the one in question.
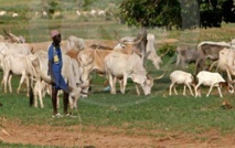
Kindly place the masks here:
MULTIPOLYGON (((94 128, 79 126, 22 125, 18 121, 3 121, 7 134, 0 131, 3 142, 32 144, 38 146, 61 146, 81 148, 233 148, 235 135, 221 136, 216 131, 201 135, 204 140, 186 134, 167 134, 164 137, 125 135, 115 127, 94 128)), ((138 131, 137 131, 138 133, 138 131)), ((157 131, 156 131, 157 133, 157 131)))

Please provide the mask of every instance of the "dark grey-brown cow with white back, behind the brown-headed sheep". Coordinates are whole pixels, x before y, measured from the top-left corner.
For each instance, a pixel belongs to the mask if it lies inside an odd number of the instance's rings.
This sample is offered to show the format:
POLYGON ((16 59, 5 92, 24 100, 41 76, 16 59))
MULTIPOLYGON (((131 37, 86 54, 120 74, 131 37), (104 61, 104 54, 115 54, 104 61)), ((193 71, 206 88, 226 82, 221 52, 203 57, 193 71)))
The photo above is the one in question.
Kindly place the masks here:
POLYGON ((231 43, 226 42, 201 42, 197 45, 199 59, 196 60, 195 64, 195 73, 200 72, 201 70, 205 70, 205 61, 206 59, 211 61, 218 60, 218 52, 224 47, 231 47, 231 43))

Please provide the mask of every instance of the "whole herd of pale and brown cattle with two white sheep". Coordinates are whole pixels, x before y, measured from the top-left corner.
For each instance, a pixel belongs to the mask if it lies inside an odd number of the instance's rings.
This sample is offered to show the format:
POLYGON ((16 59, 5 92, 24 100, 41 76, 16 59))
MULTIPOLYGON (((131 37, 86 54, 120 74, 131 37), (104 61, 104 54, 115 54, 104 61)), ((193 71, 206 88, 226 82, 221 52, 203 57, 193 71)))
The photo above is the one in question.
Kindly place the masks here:
MULTIPOLYGON (((45 93, 50 94, 51 77, 47 75, 47 47, 51 42, 24 43, 24 40, 18 38, 11 32, 6 32, 6 36, 0 36, 0 66, 3 71, 2 84, 4 93, 12 92, 12 75, 20 75, 20 84, 25 82, 28 86, 26 95, 34 94, 34 106, 38 107, 38 98, 41 107, 45 93)), ((127 80, 131 78, 136 84, 136 92, 140 95, 141 86, 145 95, 151 94, 154 80, 164 76, 164 73, 158 77, 150 77, 145 66, 146 60, 150 60, 157 70, 162 64, 161 57, 154 49, 154 35, 147 33, 141 29, 136 38, 119 38, 118 43, 113 45, 90 44, 77 36, 68 36, 66 43, 62 43, 63 68, 62 75, 67 84, 73 88, 70 93, 71 107, 77 106, 77 99, 89 94, 92 84, 92 73, 106 76, 110 93, 116 94, 116 82, 119 82, 120 92, 125 94, 127 80)), ((65 42, 65 41, 64 41, 65 42)), ((234 92, 232 75, 235 75, 235 51, 233 49, 234 40, 226 42, 201 42, 196 49, 179 46, 177 51, 177 66, 185 66, 188 62, 195 63, 195 74, 175 70, 170 74, 169 95, 172 95, 172 88, 175 94, 175 84, 183 84, 189 87, 192 96, 201 96, 200 85, 210 86, 206 96, 210 95, 213 87, 217 87, 220 96, 223 97, 221 87, 225 86, 229 93, 234 92), (206 60, 215 61, 221 72, 226 72, 226 81, 217 72, 210 72, 206 67, 206 60), (197 81, 196 81, 197 80, 197 81), (194 88, 193 89, 192 87, 194 88)), ((212 68, 212 67, 211 67, 212 68)), ((32 98, 32 97, 31 97, 32 98)))

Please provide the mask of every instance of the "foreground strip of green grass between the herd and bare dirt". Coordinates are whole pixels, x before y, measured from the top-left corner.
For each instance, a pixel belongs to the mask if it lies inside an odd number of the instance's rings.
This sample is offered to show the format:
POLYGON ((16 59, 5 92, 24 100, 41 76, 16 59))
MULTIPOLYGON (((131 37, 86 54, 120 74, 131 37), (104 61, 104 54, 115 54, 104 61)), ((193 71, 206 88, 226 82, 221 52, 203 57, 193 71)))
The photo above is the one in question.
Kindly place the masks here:
MULTIPOLYGON (((49 96, 44 98, 45 108, 29 106, 25 93, 17 95, 1 94, 0 116, 22 124, 39 124, 52 126, 95 126, 118 127, 135 133, 136 129, 184 131, 202 134, 216 129, 222 134, 232 134, 235 129, 233 117, 235 112, 224 110, 220 106, 223 99, 216 91, 205 97, 207 91, 203 89, 203 97, 168 96, 168 84, 162 81, 156 83, 150 96, 136 96, 131 83, 128 84, 127 94, 110 95, 100 92, 102 84, 94 86, 94 93, 78 102, 81 119, 61 118, 52 119, 52 106, 49 96), (128 125, 128 126, 127 126, 128 125)), ((182 89, 180 89, 182 93, 182 89)), ((224 92, 225 93, 225 92, 224 92)), ((233 95, 224 94, 234 105, 233 95)), ((60 109, 62 112, 62 109, 60 109)))

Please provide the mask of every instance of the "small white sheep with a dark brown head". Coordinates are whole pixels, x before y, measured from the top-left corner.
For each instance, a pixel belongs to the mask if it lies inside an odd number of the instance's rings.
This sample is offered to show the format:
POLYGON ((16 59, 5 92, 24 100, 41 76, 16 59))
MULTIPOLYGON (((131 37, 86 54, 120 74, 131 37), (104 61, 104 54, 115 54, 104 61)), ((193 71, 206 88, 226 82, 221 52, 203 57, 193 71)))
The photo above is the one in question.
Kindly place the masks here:
POLYGON ((221 97, 223 97, 221 87, 226 87, 226 89, 229 93, 234 93, 234 87, 229 83, 227 83, 218 73, 201 71, 196 75, 196 78, 197 78, 197 84, 195 86, 195 97, 197 97, 197 96, 201 97, 201 93, 199 91, 200 85, 210 86, 206 97, 209 97, 213 87, 217 87, 217 91, 218 91, 221 97))

